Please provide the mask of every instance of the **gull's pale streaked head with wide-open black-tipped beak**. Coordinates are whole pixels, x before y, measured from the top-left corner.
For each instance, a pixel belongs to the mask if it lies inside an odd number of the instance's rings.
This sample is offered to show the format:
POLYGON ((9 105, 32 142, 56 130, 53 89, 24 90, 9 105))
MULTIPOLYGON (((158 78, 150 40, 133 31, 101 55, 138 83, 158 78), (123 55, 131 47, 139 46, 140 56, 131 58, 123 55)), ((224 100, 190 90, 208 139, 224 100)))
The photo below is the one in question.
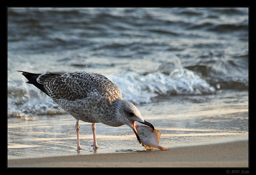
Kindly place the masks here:
POLYGON ((133 129, 133 132, 135 133, 139 143, 141 143, 141 141, 135 127, 136 121, 151 127, 153 130, 155 129, 151 123, 145 121, 142 118, 138 108, 134 104, 130 103, 129 101, 119 99, 116 110, 118 113, 118 117, 121 118, 121 120, 123 121, 123 124, 128 125, 130 128, 133 129))

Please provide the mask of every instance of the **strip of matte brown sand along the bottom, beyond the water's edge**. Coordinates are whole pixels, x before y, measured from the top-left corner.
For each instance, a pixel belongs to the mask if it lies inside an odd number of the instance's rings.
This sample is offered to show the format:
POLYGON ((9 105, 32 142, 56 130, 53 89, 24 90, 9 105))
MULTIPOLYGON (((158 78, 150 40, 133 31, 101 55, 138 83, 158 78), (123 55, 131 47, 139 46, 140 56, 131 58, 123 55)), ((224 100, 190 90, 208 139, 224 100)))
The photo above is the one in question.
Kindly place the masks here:
POLYGON ((8 160, 8 167, 249 167, 248 140, 167 151, 95 153, 8 160))

